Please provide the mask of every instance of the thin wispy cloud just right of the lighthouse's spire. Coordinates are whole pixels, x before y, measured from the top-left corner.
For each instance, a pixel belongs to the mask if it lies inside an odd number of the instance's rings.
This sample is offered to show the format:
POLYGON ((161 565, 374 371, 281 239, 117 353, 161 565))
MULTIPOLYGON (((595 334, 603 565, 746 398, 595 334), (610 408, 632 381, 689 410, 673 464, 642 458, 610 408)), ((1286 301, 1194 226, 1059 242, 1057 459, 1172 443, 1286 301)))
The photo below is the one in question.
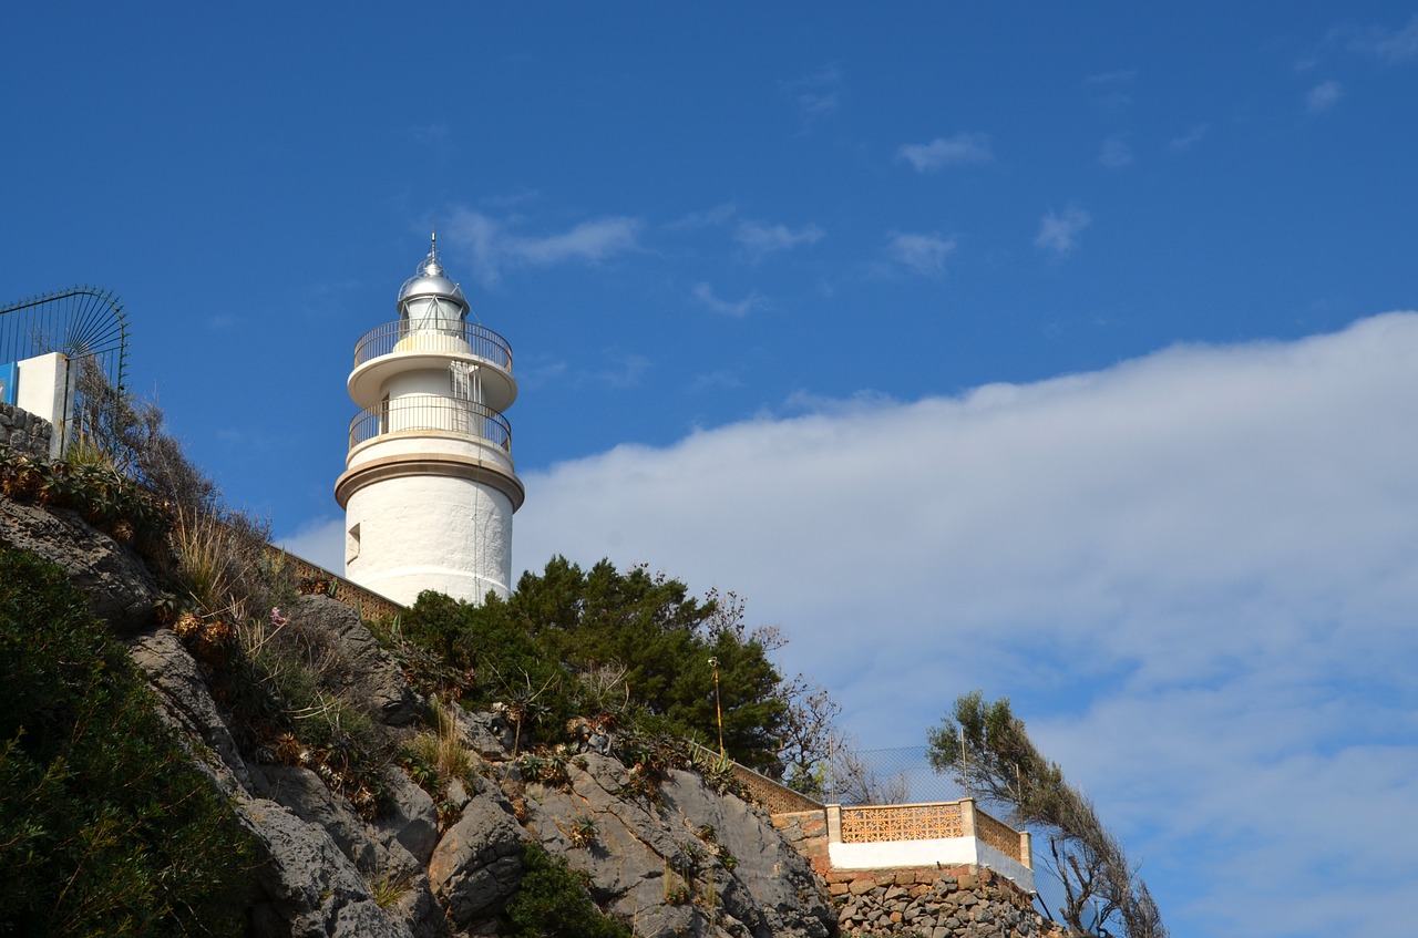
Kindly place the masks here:
POLYGON ((644 222, 640 218, 608 215, 539 237, 516 234, 509 227, 506 221, 459 208, 448 224, 447 241, 471 258, 474 273, 482 283, 493 286, 508 269, 552 266, 570 261, 600 264, 635 251, 644 222))

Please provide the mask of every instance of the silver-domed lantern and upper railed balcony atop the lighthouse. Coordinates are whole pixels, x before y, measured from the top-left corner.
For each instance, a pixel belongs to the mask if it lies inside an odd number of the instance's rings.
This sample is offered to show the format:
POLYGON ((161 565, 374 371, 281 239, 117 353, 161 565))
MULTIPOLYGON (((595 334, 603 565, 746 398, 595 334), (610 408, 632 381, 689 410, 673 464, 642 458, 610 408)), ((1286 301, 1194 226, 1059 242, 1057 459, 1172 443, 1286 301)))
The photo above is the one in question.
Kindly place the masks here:
POLYGON ((398 320, 360 336, 349 392, 356 407, 377 411, 398 384, 418 373, 462 368, 476 375, 478 404, 502 414, 518 397, 512 346, 481 323, 468 322, 462 288, 444 273, 434 238, 428 256, 398 290, 398 320))

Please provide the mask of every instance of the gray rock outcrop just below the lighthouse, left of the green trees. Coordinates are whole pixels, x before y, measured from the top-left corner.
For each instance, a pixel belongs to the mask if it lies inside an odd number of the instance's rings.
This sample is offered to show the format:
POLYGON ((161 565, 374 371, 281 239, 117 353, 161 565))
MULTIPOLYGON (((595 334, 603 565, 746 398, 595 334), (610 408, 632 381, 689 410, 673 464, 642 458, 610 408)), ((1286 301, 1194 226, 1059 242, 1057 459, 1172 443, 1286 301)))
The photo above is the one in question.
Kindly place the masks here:
POLYGON ((364 628, 359 612, 329 597, 299 597, 286 628, 298 629, 309 640, 326 642, 337 656, 328 672, 333 690, 349 696, 387 725, 407 727, 418 718, 417 694, 398 663, 364 628))

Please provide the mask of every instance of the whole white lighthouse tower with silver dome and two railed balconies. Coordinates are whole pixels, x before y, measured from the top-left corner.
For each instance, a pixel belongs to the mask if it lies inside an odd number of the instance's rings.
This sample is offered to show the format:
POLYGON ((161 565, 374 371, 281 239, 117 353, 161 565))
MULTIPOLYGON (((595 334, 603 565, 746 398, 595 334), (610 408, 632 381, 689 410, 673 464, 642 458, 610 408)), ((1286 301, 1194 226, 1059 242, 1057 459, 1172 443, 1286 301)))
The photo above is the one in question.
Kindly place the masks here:
POLYGON ((398 290, 398 322, 354 346, 360 412, 335 483, 345 575, 406 605, 424 589, 506 597, 512 580, 512 513, 525 497, 502 415, 518 395, 512 347, 468 313, 435 235, 398 290))

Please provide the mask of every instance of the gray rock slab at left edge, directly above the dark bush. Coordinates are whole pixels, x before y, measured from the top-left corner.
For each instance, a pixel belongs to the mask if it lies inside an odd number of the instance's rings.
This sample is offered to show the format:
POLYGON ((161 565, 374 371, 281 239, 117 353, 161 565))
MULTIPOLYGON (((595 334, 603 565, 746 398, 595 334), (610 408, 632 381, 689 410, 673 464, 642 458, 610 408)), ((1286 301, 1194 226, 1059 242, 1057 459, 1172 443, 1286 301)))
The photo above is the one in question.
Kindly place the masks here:
POLYGON ((152 618, 157 582, 128 547, 68 509, 23 504, 0 496, 0 544, 64 567, 88 597, 89 611, 128 633, 152 618))

